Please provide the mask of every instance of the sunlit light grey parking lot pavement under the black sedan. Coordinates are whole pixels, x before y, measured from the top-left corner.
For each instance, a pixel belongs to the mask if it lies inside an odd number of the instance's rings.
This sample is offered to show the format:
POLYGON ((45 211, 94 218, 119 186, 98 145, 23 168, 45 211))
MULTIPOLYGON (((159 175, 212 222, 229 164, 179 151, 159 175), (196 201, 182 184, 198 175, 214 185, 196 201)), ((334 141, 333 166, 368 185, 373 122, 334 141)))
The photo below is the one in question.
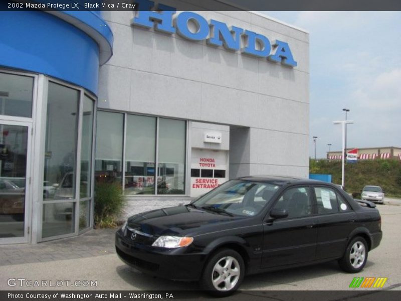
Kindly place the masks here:
MULTIPOLYGON (((348 290, 353 277, 387 277, 384 289, 401 289, 401 206, 378 205, 383 239, 369 252, 368 262, 358 274, 339 269, 337 262, 248 276, 243 290, 348 290)), ((59 242, 58 242, 59 243, 59 242)), ((71 282, 70 282, 71 283, 71 282)), ((126 266, 114 254, 0 266, 0 289, 97 289, 97 290, 195 290, 185 283, 144 275, 126 266), (93 280, 97 286, 10 287, 9 278, 30 280, 93 280)), ((356 289, 356 288, 352 288, 356 289)), ((368 288, 366 288, 368 289, 368 288)))

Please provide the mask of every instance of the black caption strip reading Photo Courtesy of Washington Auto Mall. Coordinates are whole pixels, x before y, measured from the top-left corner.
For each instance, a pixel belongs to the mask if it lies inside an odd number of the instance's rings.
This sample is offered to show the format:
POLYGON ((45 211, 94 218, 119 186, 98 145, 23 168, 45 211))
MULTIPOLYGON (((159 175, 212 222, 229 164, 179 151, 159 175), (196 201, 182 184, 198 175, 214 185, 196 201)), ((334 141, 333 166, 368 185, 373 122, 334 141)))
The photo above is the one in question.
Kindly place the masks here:
MULTIPOLYGON (((0 300, 2 301, 92 301, 92 300, 115 300, 115 301, 131 301, 131 300, 194 300, 194 299, 214 299, 213 295, 207 291, 110 291, 110 290, 32 290, 32 291, 0 291, 0 300)), ((320 290, 320 291, 274 291, 274 290, 243 290, 236 291, 228 297, 219 298, 221 300, 230 299, 230 301, 262 301, 262 300, 278 300, 278 301, 392 301, 401 299, 399 290, 320 290)))

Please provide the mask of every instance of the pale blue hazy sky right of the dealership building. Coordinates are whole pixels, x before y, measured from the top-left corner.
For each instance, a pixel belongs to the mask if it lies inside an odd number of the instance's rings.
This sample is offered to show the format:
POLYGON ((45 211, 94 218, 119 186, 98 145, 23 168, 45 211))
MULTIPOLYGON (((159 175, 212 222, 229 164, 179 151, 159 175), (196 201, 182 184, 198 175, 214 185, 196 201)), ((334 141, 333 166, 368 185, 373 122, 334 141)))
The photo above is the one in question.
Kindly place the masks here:
POLYGON ((313 136, 317 158, 341 150, 343 108, 347 148, 401 147, 401 12, 263 13, 309 32, 310 157, 313 136))

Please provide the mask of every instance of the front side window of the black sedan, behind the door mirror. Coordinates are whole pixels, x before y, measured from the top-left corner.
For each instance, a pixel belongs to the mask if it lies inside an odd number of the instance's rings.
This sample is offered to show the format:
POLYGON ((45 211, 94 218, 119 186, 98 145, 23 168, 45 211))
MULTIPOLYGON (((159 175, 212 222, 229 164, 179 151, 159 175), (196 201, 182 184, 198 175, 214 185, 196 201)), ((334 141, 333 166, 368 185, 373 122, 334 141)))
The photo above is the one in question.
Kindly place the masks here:
POLYGON ((308 187, 287 189, 273 209, 287 209, 288 218, 305 217, 312 214, 312 203, 308 187))

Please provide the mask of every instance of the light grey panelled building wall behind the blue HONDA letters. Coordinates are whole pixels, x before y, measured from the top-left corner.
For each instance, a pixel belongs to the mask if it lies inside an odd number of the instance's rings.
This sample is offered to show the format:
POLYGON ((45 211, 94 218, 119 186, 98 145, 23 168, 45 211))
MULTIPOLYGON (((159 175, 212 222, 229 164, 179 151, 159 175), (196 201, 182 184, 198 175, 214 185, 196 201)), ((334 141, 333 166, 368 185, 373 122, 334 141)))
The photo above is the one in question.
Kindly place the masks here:
MULTIPOLYGON (((100 68, 98 106, 230 126, 220 145, 230 145, 230 178, 307 178, 309 35, 251 12, 196 13, 287 42, 298 66, 133 27, 134 12, 104 12, 114 53, 100 68)), ((194 123, 192 135, 200 131, 194 123)))

